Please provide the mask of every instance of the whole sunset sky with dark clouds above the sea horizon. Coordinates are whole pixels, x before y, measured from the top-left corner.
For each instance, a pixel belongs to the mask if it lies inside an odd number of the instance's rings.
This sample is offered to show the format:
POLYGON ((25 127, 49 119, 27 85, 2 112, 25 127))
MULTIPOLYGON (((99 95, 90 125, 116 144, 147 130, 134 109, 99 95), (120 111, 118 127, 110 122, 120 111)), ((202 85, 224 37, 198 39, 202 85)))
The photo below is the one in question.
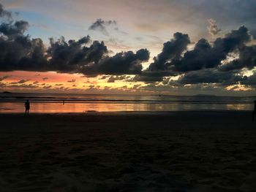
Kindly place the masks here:
POLYGON ((0 91, 256 95, 254 0, 0 4, 0 91))

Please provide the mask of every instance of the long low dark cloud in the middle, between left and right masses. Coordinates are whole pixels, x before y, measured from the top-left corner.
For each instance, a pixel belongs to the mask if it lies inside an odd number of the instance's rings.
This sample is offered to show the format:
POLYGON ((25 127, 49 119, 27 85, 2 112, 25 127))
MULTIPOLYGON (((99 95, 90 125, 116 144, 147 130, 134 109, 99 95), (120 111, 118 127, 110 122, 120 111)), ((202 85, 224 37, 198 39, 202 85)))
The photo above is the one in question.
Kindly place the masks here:
POLYGON ((51 70, 57 72, 82 73, 96 76, 98 74, 138 74, 142 70, 142 62, 148 61, 148 50, 116 53, 108 56, 108 48, 104 42, 94 41, 90 47, 81 44, 75 46, 59 39, 52 42, 50 51, 51 70))

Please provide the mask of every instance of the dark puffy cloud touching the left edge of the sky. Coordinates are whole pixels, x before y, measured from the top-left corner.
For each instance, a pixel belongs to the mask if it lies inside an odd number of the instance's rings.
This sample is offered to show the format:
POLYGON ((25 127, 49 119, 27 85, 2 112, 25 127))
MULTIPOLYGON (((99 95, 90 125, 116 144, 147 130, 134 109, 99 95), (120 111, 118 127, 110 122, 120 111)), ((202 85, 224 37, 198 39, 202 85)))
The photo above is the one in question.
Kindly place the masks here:
POLYGON ((42 39, 30 39, 24 35, 29 24, 26 21, 1 23, 0 71, 42 70, 47 64, 42 39))

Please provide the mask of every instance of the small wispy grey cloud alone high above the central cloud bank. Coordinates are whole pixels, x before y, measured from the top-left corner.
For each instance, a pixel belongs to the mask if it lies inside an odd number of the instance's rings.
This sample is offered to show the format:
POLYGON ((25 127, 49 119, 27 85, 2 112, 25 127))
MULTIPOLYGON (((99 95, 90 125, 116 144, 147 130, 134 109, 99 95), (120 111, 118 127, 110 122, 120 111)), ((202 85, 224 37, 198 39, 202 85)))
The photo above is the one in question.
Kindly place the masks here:
POLYGON ((97 19, 94 23, 92 23, 91 26, 89 27, 89 30, 100 31, 105 36, 109 36, 108 30, 107 30, 108 26, 113 26, 116 31, 118 30, 116 20, 102 20, 102 19, 97 19))

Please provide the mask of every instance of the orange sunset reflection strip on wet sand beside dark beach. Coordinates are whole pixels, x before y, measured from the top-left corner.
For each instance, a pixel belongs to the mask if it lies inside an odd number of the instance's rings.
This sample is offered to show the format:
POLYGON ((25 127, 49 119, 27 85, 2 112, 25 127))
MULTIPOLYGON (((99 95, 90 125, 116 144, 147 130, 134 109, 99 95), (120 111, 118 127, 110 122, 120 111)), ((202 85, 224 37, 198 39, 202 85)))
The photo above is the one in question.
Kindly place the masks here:
MULTIPOLYGON (((252 104, 159 104, 159 103, 31 103, 32 113, 252 110, 252 104)), ((24 112, 23 103, 0 103, 1 113, 24 112)))

